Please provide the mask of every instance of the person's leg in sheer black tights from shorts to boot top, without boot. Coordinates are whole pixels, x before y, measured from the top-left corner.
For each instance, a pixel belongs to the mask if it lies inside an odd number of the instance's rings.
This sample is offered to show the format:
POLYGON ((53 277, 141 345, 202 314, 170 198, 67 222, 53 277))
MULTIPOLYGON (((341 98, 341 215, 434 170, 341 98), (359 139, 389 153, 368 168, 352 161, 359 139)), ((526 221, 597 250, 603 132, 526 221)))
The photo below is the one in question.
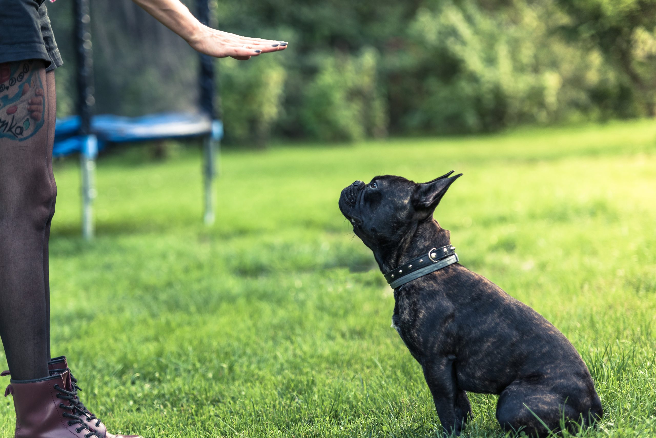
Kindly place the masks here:
POLYGON ((0 337, 14 380, 49 375, 54 105, 43 61, 0 64, 0 337))

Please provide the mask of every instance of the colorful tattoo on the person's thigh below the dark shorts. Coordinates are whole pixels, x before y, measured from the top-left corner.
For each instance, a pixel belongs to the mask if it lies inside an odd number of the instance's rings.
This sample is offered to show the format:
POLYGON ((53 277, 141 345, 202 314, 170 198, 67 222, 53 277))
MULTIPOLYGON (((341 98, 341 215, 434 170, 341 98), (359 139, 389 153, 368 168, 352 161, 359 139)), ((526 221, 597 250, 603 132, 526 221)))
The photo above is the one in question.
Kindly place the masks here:
POLYGON ((27 140, 43 127, 43 82, 33 61, 0 64, 0 138, 27 140))

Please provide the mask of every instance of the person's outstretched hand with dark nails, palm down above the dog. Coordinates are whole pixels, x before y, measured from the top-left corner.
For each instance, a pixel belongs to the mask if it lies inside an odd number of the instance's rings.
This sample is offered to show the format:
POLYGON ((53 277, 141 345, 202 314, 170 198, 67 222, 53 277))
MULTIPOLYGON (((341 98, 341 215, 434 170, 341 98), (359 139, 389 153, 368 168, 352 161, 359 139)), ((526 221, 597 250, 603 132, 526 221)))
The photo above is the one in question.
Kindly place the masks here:
POLYGON ((249 38, 203 26, 188 40, 189 45, 198 52, 216 58, 231 56, 247 60, 262 53, 285 50, 287 43, 271 39, 249 38))

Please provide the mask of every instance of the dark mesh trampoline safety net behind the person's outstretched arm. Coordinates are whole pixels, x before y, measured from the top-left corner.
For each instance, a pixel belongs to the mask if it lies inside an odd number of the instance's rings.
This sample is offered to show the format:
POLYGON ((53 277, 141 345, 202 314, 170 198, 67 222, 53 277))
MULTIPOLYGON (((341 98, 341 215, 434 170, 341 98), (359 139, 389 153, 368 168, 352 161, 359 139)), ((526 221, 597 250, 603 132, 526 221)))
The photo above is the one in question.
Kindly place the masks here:
MULTIPOLYGON (((194 1, 183 3, 195 13, 194 1)), ((199 111, 199 57, 186 41, 131 0, 92 0, 89 9, 94 113, 199 111)), ((49 4, 48 12, 64 58, 64 66, 56 71, 62 117, 75 113, 72 2, 49 4)))

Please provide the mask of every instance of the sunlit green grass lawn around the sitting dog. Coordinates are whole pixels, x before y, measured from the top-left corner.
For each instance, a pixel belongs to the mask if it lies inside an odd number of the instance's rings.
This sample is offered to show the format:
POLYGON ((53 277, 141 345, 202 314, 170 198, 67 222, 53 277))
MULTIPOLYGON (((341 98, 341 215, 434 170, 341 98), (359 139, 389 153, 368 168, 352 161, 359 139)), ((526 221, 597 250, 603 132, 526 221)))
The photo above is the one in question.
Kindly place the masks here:
MULTIPOLYGON (((58 163, 52 346, 114 431, 144 437, 426 437, 440 422, 392 290, 337 208, 356 179, 463 172, 436 211, 461 263, 564 332, 604 420, 656 435, 656 123, 227 151, 216 225, 200 153, 98 161, 98 237, 58 163)), ((0 355, 0 364, 5 359, 0 355)), ((9 382, 7 382, 9 383, 9 382)), ((464 436, 502 436, 470 395, 464 436)), ((0 436, 13 433, 11 397, 0 436)))

